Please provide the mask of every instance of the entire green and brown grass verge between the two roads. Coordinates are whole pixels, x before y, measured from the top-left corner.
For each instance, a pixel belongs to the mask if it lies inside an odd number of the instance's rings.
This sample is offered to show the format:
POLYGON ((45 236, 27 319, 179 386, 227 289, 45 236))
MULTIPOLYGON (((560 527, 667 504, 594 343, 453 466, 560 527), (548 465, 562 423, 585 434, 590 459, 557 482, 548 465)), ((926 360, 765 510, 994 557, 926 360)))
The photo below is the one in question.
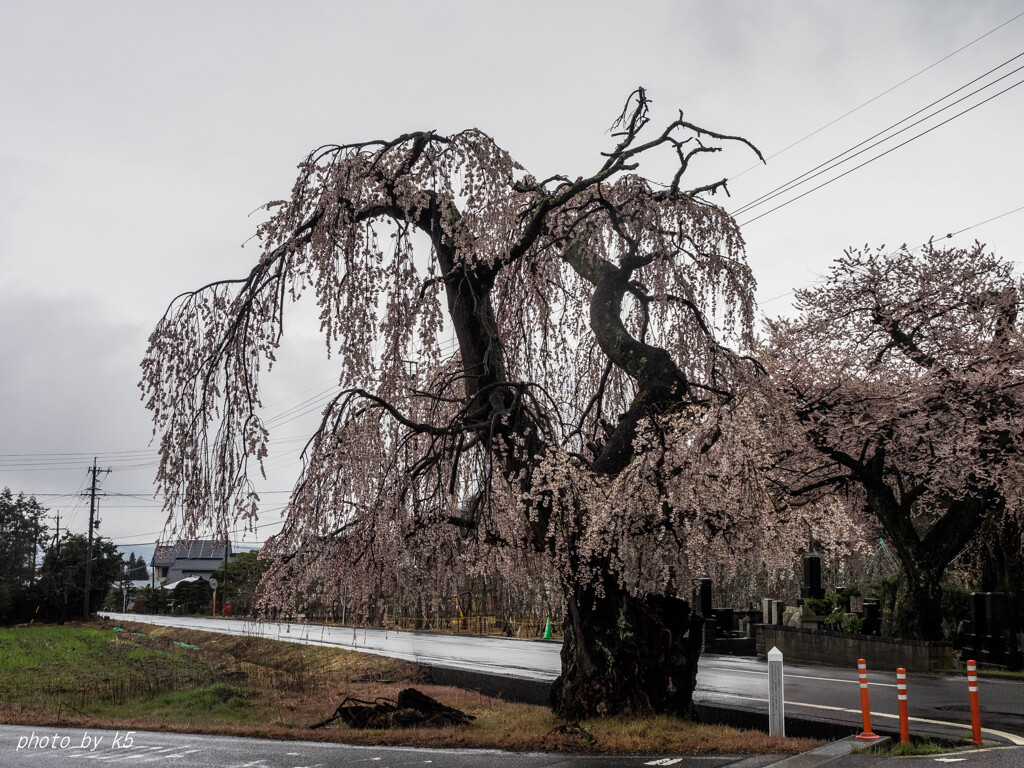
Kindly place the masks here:
POLYGON ((356 744, 606 754, 804 752, 811 739, 671 717, 607 718, 556 731, 548 709, 431 685, 417 665, 371 653, 154 625, 0 629, 0 722, 171 730, 356 744), (346 696, 414 686, 476 717, 467 727, 310 731, 346 696), (577 735, 573 735, 575 733, 577 735))

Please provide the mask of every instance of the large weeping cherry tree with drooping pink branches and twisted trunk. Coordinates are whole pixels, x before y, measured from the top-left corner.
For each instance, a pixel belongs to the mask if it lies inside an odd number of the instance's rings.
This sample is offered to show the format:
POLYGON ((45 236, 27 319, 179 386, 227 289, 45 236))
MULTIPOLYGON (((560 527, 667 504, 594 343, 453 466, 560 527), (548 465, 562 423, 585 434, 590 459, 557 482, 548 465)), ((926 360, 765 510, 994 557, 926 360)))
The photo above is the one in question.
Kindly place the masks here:
POLYGON ((183 529, 254 519, 258 374, 311 293, 339 391, 263 549, 267 604, 473 573, 551 585, 559 711, 687 711, 700 620, 675 594, 721 553, 779 555, 733 428, 754 281, 706 199, 725 180, 683 184, 705 155, 753 147, 681 114, 649 133, 648 106, 635 91, 575 179, 529 175, 479 130, 311 153, 250 273, 179 296, 152 336, 141 386, 183 529), (634 173, 657 153, 665 184, 634 173))

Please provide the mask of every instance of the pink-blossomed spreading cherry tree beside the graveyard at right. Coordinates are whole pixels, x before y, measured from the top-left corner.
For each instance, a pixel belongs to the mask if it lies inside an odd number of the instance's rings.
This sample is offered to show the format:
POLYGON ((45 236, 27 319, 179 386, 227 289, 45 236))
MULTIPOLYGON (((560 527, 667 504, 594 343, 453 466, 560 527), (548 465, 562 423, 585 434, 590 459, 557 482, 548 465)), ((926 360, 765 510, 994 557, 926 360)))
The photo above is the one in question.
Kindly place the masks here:
POLYGON ((853 250, 797 296, 763 358, 806 436, 777 477, 866 506, 907 578, 905 630, 941 639, 947 565, 1008 520, 1020 537, 1020 278, 980 244, 853 250))

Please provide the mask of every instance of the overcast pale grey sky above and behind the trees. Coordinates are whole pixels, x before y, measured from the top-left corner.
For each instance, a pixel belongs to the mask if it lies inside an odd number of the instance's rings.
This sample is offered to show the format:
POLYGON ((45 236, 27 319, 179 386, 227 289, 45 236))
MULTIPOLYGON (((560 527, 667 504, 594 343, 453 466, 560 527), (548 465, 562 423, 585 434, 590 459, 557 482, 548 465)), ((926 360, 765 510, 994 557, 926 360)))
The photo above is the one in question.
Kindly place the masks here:
MULTIPOLYGON (((766 167, 738 146, 708 156, 699 173, 733 179, 734 211, 1024 53, 1022 12, 1019 0, 0 0, 0 486, 84 531, 76 494, 96 455, 113 469, 101 532, 156 540, 164 515, 136 388, 146 337, 176 294, 248 270, 250 213, 287 196, 312 146, 478 127, 538 177, 575 176, 599 166, 637 85, 655 122, 682 109, 766 156, 869 101, 766 167)), ((951 243, 1018 259, 1024 211, 974 225, 1024 206, 1024 86, 995 95, 1022 79, 738 215, 763 311, 788 311, 788 292, 849 246, 973 227, 951 243)), ((309 329, 290 333, 267 381, 276 453, 267 527, 250 539, 275 528, 297 472, 290 438, 331 378, 322 350, 309 329)))

